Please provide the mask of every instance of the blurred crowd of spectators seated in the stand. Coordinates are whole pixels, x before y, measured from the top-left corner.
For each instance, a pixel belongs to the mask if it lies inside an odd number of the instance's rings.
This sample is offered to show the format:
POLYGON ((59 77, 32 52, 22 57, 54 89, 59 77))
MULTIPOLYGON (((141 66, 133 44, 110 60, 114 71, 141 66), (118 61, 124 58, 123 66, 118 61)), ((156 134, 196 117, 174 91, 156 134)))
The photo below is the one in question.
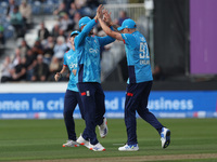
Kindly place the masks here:
MULTIPOLYGON (((15 28, 16 38, 22 38, 21 45, 16 46, 14 54, 7 56, 1 66, 1 82, 8 81, 54 81, 54 75, 61 70, 64 53, 71 49, 68 36, 73 30, 79 30, 78 22, 82 16, 93 17, 99 0, 63 0, 53 10, 58 23, 52 30, 48 30, 44 22, 40 23, 37 39, 33 46, 25 40, 25 33, 31 27, 31 5, 27 0, 9 0, 7 17, 15 28)), ((40 3, 46 0, 40 0, 40 3)), ((119 11, 114 22, 122 25, 127 17, 125 11, 119 11)), ((36 26, 37 24, 34 24, 36 26)), ((1 31, 1 28, 0 28, 1 31)), ((104 36, 100 26, 94 33, 104 36)), ((108 46, 110 48, 110 46, 108 46)), ((102 51, 108 49, 105 46, 102 51)), ((62 81, 68 80, 68 75, 62 81)))

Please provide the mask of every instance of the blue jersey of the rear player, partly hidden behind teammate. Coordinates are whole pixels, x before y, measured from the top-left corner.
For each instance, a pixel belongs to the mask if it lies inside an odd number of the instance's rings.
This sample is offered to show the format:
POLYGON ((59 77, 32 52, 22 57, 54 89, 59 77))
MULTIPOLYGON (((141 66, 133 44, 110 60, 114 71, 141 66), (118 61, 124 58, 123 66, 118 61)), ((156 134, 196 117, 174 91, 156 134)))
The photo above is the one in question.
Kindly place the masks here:
POLYGON ((76 76, 74 76, 74 73, 73 73, 74 69, 77 70, 77 53, 76 53, 76 51, 73 51, 73 49, 71 49, 68 52, 66 52, 64 54, 63 65, 67 66, 71 71, 67 90, 78 92, 78 89, 77 89, 78 75, 77 75, 77 72, 76 72, 76 76))

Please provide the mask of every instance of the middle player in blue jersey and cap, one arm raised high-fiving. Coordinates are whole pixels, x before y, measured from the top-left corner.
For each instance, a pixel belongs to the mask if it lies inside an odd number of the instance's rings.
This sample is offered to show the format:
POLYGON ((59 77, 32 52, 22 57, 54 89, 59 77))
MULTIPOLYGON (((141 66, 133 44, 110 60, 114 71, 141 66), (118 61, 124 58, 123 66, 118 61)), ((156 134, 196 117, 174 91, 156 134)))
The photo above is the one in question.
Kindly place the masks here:
POLYGON ((107 134, 104 92, 101 86, 100 48, 115 39, 111 37, 91 36, 97 24, 98 15, 93 19, 82 17, 79 21, 80 33, 75 38, 78 53, 78 90, 85 109, 86 129, 77 143, 85 145, 93 151, 104 151, 95 134, 95 125, 101 125, 101 137, 107 134), (97 117, 97 119, 95 119, 97 117))

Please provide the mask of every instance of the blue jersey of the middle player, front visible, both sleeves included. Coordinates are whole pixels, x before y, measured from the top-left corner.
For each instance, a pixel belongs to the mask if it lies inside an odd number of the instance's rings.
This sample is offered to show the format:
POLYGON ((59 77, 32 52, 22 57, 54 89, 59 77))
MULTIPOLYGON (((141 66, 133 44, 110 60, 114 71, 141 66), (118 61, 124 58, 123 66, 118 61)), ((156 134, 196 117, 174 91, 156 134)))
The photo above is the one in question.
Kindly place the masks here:
POLYGON ((78 82, 101 83, 100 48, 113 41, 112 37, 89 37, 90 30, 97 24, 91 19, 75 37, 75 48, 78 55, 78 82))

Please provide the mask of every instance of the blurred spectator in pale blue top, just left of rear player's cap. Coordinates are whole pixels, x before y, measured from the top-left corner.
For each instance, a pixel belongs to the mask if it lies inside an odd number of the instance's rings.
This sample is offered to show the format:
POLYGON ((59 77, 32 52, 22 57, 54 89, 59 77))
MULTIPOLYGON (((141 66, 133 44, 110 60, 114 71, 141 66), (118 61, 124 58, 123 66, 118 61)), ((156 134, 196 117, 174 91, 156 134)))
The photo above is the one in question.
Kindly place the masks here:
POLYGON ((65 43, 65 38, 62 36, 58 37, 56 44, 54 45, 54 55, 58 57, 60 60, 62 60, 64 53, 67 51, 67 45, 65 43))

